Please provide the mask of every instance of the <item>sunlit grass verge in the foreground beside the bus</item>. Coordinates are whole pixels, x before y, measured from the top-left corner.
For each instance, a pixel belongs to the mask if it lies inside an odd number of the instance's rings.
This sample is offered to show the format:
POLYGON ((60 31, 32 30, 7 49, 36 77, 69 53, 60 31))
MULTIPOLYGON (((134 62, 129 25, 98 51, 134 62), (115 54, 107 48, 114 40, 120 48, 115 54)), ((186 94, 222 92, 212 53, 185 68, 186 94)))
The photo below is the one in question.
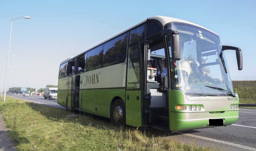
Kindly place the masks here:
POLYGON ((88 114, 12 97, 1 99, 2 118, 18 150, 216 150, 164 139, 149 130, 116 127, 88 114))

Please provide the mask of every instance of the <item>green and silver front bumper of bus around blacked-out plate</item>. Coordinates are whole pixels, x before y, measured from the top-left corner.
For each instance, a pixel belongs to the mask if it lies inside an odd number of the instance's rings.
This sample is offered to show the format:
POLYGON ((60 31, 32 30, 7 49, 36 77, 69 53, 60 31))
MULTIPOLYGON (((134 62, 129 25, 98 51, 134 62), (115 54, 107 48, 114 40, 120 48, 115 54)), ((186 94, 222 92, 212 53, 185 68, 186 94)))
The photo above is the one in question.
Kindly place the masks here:
POLYGON ((231 125, 238 120, 239 111, 225 111, 223 113, 170 113, 170 131, 185 131, 198 128, 216 127, 209 125, 210 119, 223 119, 223 126, 231 125))

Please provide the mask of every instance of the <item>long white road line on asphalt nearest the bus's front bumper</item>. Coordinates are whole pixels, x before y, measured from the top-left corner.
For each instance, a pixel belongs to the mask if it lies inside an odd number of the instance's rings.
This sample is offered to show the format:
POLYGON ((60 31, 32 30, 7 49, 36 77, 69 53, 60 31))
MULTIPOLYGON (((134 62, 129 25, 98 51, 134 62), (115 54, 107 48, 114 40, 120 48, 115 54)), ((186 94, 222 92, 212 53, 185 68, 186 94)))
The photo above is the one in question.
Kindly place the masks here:
POLYGON ((235 143, 232 143, 232 142, 225 142, 225 141, 221 141, 221 140, 217 140, 217 139, 211 139, 211 138, 207 138, 207 137, 203 137, 203 136, 197 136, 197 135, 193 135, 193 134, 187 134, 187 133, 183 133, 183 132, 176 132, 176 133, 191 136, 191 137, 196 137, 196 138, 199 138, 199 139, 205 139, 205 140, 212 141, 212 142, 219 142, 219 143, 222 143, 222 144, 227 144, 227 145, 231 145, 231 146, 235 146, 235 147, 239 147, 239 148, 243 148, 243 149, 249 149, 249 150, 256 151, 256 148, 252 148, 252 147, 244 146, 244 145, 239 145, 239 144, 235 144, 235 143))

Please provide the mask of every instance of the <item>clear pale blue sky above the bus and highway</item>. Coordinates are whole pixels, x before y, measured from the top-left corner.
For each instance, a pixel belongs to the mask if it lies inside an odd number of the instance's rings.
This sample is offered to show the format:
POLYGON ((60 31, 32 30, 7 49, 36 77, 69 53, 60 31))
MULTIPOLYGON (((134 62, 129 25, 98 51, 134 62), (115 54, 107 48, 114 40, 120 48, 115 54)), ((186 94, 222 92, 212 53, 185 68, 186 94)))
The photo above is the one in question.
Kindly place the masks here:
POLYGON ((254 0, 1 0, 0 69, 8 56, 11 19, 31 17, 13 21, 10 55, 15 56, 9 59, 7 88, 38 89, 58 84, 60 62, 160 15, 199 24, 217 33, 223 45, 240 47, 244 59, 241 71, 235 51, 225 52, 231 79, 256 80, 255 6, 254 0))

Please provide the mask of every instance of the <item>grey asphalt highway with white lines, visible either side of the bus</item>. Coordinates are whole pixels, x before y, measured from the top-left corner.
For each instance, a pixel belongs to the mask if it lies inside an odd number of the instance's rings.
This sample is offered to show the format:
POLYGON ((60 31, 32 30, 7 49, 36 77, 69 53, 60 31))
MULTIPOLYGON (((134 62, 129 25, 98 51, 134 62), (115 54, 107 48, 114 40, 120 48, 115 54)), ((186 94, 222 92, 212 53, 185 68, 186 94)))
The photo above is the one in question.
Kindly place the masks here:
MULTIPOLYGON (((12 95, 11 97, 64 108, 57 104, 57 100, 44 100, 44 97, 37 95, 32 95, 30 97, 12 95)), ((194 142, 196 146, 216 147, 222 150, 232 151, 256 151, 256 110, 239 109, 239 119, 233 125, 202 128, 183 132, 163 132, 161 135, 166 139, 174 139, 186 144, 194 142)))

